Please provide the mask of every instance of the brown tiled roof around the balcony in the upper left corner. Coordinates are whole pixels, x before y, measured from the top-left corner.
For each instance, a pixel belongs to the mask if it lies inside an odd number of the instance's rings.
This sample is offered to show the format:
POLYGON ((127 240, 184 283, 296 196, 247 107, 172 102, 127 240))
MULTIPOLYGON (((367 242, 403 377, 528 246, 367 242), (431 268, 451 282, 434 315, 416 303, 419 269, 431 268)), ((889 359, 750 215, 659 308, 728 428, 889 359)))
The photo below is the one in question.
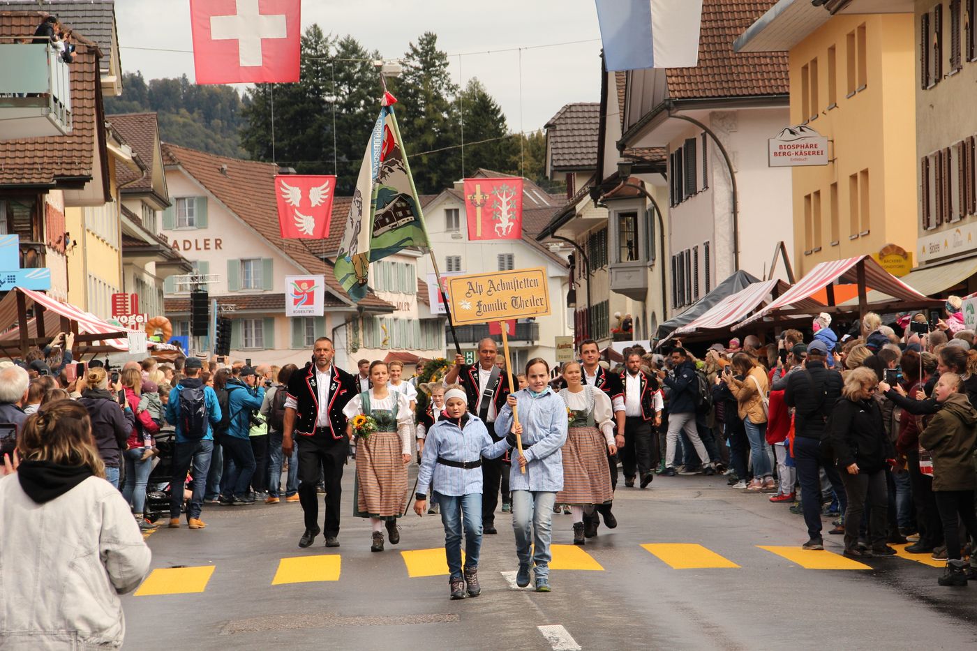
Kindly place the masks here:
MULTIPOLYGON (((46 12, 0 12, 0 36, 33 34, 46 12)), ((104 137, 97 128, 96 113, 102 103, 98 70, 99 48, 84 36, 76 35, 71 72, 71 132, 64 136, 0 141, 0 186, 55 186, 59 180, 91 178, 96 138, 104 137)), ((105 147, 101 148, 105 152, 105 147)))

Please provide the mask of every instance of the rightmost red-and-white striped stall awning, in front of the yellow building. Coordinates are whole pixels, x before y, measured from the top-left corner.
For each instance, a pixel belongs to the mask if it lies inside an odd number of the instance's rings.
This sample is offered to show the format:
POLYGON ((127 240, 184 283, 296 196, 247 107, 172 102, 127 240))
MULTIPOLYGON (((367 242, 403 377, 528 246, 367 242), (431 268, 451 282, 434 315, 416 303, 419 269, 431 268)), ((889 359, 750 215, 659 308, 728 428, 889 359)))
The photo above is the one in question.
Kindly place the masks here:
MULTIPOLYGON (((896 300, 913 302, 926 302, 930 300, 910 285, 900 281, 882 269, 881 265, 875 262, 870 255, 856 255, 855 257, 844 260, 822 262, 815 266, 807 276, 795 282, 780 298, 762 310, 759 310, 752 317, 735 325, 733 329, 739 329, 744 325, 755 323, 780 309, 806 309, 802 302, 832 282, 858 282, 857 266, 863 261, 865 263, 865 283, 867 287, 892 296, 896 300)), ((816 310, 812 311, 812 314, 816 313, 816 310)))

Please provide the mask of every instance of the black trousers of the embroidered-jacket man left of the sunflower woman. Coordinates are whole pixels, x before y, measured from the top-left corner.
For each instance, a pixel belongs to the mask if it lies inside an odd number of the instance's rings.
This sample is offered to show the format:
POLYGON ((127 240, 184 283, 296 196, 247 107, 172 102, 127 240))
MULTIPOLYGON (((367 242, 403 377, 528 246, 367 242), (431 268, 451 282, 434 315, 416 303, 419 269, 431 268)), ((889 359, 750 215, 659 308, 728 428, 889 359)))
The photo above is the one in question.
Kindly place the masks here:
POLYGON ((322 533, 326 537, 339 536, 339 511, 343 498, 343 465, 349 454, 349 439, 335 440, 330 436, 295 437, 299 449, 299 501, 305 511, 306 529, 319 526, 319 497, 316 486, 319 478, 325 484, 325 520, 322 533))

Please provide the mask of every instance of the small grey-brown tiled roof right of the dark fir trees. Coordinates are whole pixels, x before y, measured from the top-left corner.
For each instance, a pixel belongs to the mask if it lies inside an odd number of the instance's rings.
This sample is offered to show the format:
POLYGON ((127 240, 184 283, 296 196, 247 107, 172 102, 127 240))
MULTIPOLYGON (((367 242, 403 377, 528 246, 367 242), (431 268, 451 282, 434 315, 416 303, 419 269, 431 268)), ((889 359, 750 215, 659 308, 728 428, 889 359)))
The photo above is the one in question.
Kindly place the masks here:
POLYGON ((597 139, 601 105, 595 102, 568 104, 546 122, 550 169, 576 170, 597 167, 597 139))

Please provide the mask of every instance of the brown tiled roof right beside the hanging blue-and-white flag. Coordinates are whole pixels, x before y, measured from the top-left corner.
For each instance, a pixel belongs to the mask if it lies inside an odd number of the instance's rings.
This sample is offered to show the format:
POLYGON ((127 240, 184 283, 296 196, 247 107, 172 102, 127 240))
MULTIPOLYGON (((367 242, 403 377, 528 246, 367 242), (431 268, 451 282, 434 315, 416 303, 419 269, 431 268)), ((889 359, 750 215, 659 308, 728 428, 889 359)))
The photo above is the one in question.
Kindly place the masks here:
POLYGON ((699 65, 667 70, 672 100, 787 95, 787 53, 736 53, 733 41, 777 0, 703 0, 699 65))

